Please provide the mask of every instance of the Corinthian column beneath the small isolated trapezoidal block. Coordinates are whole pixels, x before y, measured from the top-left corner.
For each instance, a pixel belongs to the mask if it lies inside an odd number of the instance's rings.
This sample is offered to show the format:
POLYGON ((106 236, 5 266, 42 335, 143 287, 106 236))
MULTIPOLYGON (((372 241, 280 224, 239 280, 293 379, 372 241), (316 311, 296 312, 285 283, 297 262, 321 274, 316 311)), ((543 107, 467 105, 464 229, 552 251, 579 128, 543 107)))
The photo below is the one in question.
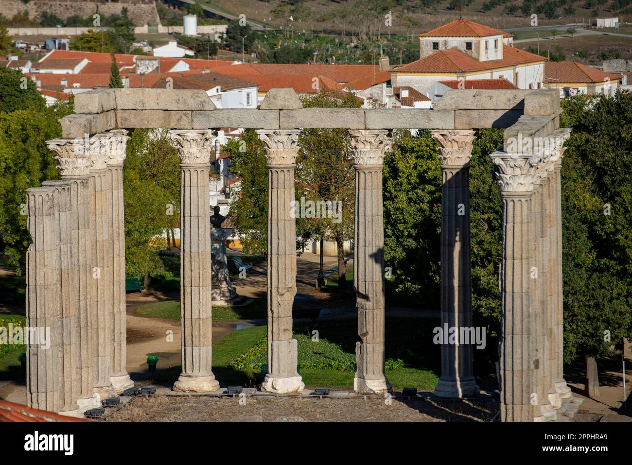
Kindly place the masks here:
POLYGON ((296 295, 296 219, 290 215, 298 130, 258 130, 268 167, 268 373, 261 389, 300 393, 305 385, 296 371, 298 349, 292 339, 296 295))

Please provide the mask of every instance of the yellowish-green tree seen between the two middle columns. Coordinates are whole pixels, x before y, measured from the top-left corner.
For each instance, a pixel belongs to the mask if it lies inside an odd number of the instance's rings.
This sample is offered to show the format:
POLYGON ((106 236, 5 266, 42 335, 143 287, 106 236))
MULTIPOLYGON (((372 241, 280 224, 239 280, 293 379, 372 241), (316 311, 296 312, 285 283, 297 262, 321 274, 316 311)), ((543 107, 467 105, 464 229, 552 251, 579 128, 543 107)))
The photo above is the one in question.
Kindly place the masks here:
MULTIPOLYGON (((343 95, 327 90, 303 99, 303 108, 360 106, 362 103, 352 94, 343 95)), ((332 238, 336 242, 338 286, 344 289, 344 241, 353 237, 355 219, 355 170, 351 160, 351 138, 345 129, 304 129, 300 133, 298 145, 301 150, 296 157, 296 178, 301 197, 304 196, 306 202, 332 202, 331 205, 337 205, 338 210, 332 217, 303 218, 303 224, 297 227, 297 231, 304 236, 308 236, 305 233, 313 233, 319 238, 332 238)))

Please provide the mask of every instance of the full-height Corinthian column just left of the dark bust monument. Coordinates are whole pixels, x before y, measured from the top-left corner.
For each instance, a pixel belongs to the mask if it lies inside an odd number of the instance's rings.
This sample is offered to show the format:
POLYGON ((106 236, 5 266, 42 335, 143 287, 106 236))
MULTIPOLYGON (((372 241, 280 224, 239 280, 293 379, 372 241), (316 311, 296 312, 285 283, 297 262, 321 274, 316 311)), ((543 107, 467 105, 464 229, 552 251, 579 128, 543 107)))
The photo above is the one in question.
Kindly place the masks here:
POLYGON ((172 130, 169 137, 181 160, 180 301, 182 373, 173 389, 219 389, 212 365, 210 262, 210 152, 217 137, 210 130, 172 130))

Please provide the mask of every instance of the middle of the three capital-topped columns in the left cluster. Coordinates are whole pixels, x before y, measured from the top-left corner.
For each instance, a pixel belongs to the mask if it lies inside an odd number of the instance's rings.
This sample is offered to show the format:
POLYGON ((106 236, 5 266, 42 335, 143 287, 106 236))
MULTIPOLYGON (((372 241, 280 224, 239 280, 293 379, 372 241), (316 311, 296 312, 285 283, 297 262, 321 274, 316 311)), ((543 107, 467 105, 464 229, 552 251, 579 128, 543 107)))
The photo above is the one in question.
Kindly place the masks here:
POLYGON ((112 386, 112 321, 114 306, 112 302, 112 259, 111 236, 107 201, 107 159, 109 157, 110 135, 99 134, 90 138, 90 215, 94 219, 91 225, 92 281, 95 306, 93 312, 95 354, 94 354, 94 392, 100 400, 118 395, 112 386))

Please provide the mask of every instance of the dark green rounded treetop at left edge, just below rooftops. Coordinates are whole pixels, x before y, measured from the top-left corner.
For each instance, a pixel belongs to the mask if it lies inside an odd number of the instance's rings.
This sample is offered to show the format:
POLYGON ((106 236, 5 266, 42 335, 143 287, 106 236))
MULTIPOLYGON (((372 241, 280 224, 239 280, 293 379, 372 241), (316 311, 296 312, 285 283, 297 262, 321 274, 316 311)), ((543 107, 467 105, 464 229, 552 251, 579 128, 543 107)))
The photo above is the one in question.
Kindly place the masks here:
POLYGON ((0 67, 0 112, 44 111, 46 100, 20 69, 0 67))

